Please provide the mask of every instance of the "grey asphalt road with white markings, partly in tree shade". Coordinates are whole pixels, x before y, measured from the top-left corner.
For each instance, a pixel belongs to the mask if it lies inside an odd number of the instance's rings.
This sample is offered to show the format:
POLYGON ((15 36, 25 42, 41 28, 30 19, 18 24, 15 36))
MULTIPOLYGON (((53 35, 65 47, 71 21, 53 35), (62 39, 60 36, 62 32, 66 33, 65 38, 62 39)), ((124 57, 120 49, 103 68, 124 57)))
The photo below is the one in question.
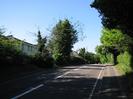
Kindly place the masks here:
POLYGON ((114 66, 49 69, 0 84, 0 99, 127 99, 114 66))

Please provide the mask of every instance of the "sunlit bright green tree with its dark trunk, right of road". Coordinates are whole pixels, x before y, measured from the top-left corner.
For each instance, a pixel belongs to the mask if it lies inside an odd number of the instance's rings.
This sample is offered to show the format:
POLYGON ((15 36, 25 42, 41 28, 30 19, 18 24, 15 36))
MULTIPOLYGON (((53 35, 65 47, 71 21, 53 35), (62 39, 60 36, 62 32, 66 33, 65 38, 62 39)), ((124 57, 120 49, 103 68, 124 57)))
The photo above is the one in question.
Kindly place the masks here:
POLYGON ((132 43, 132 39, 126 34, 123 34, 120 30, 108 28, 103 28, 100 40, 102 46, 99 46, 97 52, 105 55, 105 58, 107 58, 108 53, 112 53, 114 64, 117 63, 118 54, 125 51, 128 45, 132 43))

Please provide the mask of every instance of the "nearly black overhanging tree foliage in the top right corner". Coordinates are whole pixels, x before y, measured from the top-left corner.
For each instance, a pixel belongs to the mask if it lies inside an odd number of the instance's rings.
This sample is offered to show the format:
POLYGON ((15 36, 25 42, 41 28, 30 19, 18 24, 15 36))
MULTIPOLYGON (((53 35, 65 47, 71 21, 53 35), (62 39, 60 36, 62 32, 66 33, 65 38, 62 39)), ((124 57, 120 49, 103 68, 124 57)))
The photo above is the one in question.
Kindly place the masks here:
POLYGON ((94 0, 91 7, 102 16, 102 24, 107 28, 121 29, 133 37, 132 0, 94 0))

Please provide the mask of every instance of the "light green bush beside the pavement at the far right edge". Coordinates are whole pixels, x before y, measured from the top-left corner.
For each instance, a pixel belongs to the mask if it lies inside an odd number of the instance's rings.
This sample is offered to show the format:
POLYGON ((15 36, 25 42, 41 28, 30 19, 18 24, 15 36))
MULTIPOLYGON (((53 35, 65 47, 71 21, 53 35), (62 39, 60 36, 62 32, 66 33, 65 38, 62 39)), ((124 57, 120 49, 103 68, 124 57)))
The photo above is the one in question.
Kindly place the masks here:
POLYGON ((121 53, 118 56, 118 65, 117 68, 120 70, 120 72, 124 75, 126 85, 128 90, 131 90, 133 87, 133 61, 132 61, 132 54, 129 52, 125 51, 124 53, 121 53))

